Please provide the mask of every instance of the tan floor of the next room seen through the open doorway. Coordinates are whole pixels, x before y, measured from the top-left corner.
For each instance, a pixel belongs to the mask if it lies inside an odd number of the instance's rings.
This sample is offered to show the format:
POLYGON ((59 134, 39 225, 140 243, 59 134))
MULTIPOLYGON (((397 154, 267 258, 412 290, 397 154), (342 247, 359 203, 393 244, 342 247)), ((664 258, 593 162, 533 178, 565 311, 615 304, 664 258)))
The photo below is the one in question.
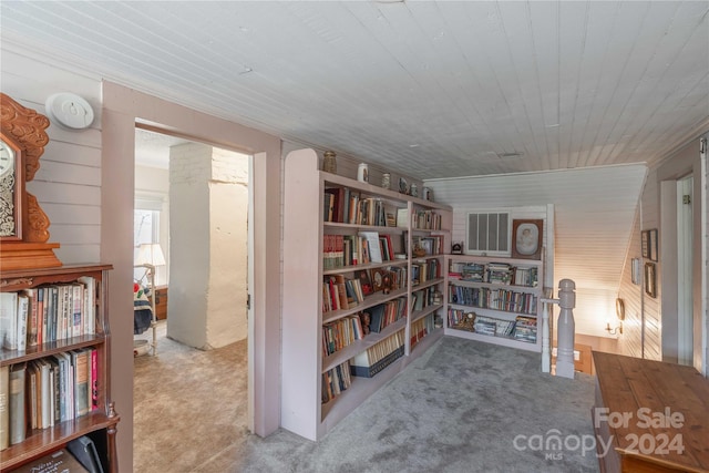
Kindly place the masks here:
POLYGON ((248 435, 247 342, 202 351, 165 332, 161 320, 157 356, 134 359, 133 472, 209 471, 248 435))

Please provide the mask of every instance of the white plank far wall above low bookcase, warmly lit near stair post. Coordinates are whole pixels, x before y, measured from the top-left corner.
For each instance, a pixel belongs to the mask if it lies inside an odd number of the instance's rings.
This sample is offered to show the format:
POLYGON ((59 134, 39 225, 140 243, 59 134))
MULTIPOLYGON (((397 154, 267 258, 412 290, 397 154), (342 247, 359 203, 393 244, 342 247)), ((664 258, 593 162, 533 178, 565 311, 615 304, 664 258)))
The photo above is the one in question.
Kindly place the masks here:
MULTIPOLYGON (((561 279, 574 280, 576 331, 607 337, 605 326, 615 318, 616 294, 645 173, 645 165, 604 166, 433 179, 425 185, 433 188, 436 202, 453 206, 454 213, 553 204, 554 294, 561 279)), ((454 240, 461 232, 454 228, 454 240)))

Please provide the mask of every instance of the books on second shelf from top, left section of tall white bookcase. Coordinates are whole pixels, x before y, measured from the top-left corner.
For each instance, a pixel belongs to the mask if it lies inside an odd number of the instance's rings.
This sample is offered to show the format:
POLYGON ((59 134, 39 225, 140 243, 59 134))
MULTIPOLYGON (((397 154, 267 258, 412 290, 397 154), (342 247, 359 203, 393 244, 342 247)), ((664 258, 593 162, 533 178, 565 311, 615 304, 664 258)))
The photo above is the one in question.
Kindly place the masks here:
POLYGON ((323 235, 322 269, 368 265, 397 259, 393 241, 388 234, 360 232, 359 235, 323 235))

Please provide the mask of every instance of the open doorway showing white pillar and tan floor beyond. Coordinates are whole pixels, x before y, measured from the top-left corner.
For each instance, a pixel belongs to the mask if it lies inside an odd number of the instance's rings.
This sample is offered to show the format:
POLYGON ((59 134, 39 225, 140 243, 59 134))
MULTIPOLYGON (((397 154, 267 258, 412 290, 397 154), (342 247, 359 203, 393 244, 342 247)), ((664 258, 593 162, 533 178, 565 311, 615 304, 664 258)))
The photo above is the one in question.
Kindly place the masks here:
POLYGON ((134 364, 135 472, 203 465, 229 446, 224 430, 248 428, 249 165, 240 153, 136 128, 136 254, 157 244, 165 258, 157 320, 135 336, 157 340, 134 364))

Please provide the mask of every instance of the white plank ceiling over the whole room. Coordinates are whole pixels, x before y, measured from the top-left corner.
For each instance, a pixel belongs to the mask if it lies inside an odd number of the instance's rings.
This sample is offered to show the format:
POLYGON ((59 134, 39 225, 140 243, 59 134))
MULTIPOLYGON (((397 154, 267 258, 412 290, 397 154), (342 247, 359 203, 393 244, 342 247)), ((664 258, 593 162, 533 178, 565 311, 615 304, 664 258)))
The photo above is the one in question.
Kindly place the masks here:
POLYGON ((709 128, 707 1, 0 2, 1 38, 421 178, 651 163, 709 128), (500 157, 521 153, 521 157, 500 157))

